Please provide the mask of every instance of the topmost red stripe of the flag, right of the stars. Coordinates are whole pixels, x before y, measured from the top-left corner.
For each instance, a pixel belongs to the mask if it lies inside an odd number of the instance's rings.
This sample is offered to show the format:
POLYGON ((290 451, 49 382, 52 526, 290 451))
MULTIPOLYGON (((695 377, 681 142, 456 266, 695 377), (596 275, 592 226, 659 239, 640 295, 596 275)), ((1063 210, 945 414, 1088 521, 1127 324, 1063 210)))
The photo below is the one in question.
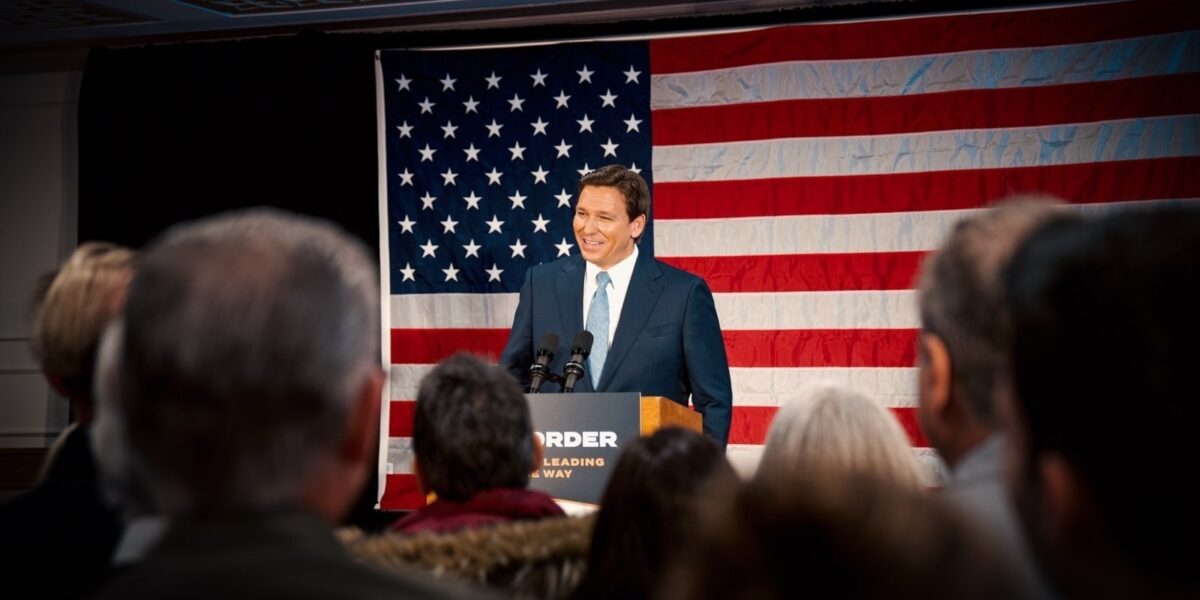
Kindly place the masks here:
POLYGON ((1190 1, 1139 1, 794 25, 650 41, 650 72, 680 73, 791 60, 911 56, 989 48, 1086 43, 1200 26, 1190 1))

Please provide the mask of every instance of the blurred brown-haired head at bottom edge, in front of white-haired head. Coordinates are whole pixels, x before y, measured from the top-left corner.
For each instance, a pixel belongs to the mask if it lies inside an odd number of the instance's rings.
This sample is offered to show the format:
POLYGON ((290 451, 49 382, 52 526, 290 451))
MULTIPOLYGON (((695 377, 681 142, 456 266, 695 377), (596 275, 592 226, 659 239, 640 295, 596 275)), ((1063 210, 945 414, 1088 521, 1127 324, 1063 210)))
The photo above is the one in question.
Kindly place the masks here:
POLYGON ((872 476, 755 479, 698 527, 662 598, 1015 598, 968 522, 872 476))

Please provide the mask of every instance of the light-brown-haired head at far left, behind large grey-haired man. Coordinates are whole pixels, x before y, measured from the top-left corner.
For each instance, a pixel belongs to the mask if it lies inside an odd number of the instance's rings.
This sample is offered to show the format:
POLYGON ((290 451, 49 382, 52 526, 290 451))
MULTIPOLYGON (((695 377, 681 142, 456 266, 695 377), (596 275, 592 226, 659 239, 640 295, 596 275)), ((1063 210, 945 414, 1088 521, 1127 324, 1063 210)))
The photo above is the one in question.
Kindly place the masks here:
POLYGON ((42 373, 71 402, 79 422, 92 416, 92 373, 100 336, 120 311, 133 252, 85 242, 53 277, 38 282, 30 340, 42 373))

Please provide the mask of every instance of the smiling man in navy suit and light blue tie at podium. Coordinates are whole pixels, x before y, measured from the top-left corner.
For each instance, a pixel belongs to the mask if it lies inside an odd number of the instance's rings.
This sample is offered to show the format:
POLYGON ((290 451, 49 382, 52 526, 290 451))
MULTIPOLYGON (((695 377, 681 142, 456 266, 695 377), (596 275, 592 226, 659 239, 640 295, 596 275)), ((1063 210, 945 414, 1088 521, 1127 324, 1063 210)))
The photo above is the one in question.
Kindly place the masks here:
MULTIPOLYGON (((500 365, 528 385, 535 344, 554 334, 551 372, 563 372, 577 331, 594 336, 575 391, 666 396, 703 415, 704 434, 730 436, 730 365, 704 280, 637 251, 650 193, 641 175, 610 164, 580 181, 575 241, 582 256, 529 269, 500 365)), ((547 383, 542 391, 558 391, 547 383)))

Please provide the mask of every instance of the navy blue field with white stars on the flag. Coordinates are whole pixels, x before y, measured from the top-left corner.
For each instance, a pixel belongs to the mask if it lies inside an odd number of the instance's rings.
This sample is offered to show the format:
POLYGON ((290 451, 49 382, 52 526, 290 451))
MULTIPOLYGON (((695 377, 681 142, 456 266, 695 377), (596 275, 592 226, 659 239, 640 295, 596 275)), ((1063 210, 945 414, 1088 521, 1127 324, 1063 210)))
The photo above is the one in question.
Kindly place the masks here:
POLYGON ((392 294, 516 292, 578 253, 584 173, 653 184, 644 43, 379 54, 392 294))

